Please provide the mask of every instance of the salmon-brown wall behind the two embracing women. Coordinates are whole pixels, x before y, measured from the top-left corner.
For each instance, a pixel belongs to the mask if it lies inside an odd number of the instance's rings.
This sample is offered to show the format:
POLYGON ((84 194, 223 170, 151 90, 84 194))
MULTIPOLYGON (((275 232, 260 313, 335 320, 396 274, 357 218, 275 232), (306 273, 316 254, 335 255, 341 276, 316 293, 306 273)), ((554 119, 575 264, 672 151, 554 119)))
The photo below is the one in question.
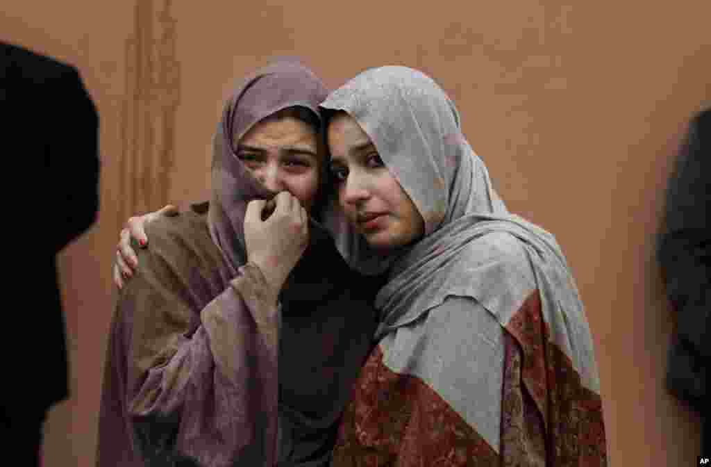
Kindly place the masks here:
POLYGON ((664 389, 671 320, 653 242, 686 122, 711 104, 711 2, 38 3, 4 2, 0 38, 80 69, 102 155, 99 220, 59 258, 72 397, 50 413, 46 466, 94 463, 122 221, 207 199, 223 98, 284 55, 331 86, 385 64, 439 81, 509 208, 567 253, 613 465, 693 465, 699 419, 664 389))

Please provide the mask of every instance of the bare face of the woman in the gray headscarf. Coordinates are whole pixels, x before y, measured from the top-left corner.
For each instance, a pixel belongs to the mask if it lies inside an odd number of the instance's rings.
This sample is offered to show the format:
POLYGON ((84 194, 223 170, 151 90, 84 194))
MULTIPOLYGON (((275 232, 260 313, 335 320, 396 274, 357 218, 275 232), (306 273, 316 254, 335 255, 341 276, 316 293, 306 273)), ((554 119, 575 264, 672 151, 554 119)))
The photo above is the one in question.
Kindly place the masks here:
POLYGON ((338 202, 370 246, 395 248, 424 234, 424 221, 410 196, 346 112, 338 112, 328 125, 328 147, 338 202))

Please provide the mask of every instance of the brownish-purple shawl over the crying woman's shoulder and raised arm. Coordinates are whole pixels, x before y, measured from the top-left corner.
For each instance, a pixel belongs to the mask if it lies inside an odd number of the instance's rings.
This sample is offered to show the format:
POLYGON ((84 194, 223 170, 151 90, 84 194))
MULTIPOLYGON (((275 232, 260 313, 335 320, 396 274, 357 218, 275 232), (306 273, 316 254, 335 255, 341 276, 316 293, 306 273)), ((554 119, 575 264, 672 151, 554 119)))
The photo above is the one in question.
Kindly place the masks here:
POLYGON ((122 424, 129 427, 123 448, 144 461, 269 461, 278 336, 252 318, 255 308, 268 307, 230 285, 205 295, 215 284, 199 283, 194 258, 176 254, 163 237, 154 231, 138 252, 139 271, 117 303, 99 451, 119 442, 111 434, 122 424), (118 408, 108 400, 117 393, 124 401, 118 408))

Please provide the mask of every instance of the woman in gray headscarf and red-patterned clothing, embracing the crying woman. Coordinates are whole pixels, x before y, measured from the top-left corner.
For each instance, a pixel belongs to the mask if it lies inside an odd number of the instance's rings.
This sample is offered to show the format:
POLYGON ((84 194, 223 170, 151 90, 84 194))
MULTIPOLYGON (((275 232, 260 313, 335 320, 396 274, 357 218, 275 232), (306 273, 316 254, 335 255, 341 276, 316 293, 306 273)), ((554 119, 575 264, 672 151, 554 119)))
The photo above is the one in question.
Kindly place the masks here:
POLYGON ((606 466, 592 338, 552 234, 510 214, 437 83, 399 66, 321 104, 324 226, 387 274, 333 466, 606 466))

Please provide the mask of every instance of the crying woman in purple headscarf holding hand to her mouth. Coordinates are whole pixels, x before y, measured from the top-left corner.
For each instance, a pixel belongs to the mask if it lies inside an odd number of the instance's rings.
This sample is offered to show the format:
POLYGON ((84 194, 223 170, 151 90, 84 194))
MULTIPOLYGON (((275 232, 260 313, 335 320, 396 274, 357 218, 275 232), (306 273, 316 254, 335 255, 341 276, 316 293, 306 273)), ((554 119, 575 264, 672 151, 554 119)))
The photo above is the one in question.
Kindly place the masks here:
POLYGON ((309 217, 326 171, 325 97, 292 61, 247 78, 213 139, 209 205, 146 228, 114 310, 97 466, 330 463, 377 288, 355 286, 309 217))

